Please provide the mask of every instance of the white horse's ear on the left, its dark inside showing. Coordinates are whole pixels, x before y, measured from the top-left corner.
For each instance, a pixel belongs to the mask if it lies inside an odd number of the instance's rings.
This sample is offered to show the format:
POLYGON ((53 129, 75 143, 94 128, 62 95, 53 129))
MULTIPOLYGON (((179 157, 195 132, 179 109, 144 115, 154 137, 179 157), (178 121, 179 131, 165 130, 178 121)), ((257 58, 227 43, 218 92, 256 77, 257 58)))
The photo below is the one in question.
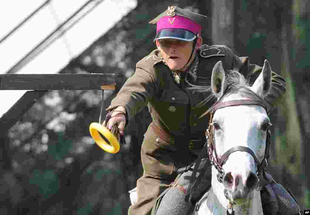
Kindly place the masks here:
POLYGON ((214 65, 212 70, 212 76, 211 76, 212 93, 217 98, 220 98, 224 94, 225 86, 226 86, 225 71, 223 68, 222 61, 219 61, 214 65))

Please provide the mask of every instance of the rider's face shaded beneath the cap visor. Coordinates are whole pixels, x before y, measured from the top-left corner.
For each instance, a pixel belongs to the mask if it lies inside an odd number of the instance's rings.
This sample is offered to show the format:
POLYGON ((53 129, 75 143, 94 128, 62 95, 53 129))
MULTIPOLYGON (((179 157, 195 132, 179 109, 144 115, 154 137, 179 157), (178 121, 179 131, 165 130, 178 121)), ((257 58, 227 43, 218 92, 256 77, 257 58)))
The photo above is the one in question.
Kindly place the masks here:
POLYGON ((170 38, 156 40, 156 45, 171 70, 182 69, 193 49, 193 41, 188 42, 170 38))

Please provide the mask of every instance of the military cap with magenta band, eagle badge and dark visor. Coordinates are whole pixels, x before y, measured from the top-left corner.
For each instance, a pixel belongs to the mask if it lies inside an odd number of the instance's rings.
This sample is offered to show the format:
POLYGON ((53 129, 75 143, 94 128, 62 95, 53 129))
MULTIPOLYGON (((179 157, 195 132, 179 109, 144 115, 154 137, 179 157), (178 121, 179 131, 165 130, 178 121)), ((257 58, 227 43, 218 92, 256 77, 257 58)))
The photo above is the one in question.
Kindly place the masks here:
POLYGON ((200 34, 206 21, 207 17, 204 15, 169 6, 166 11, 150 21, 150 24, 157 25, 154 41, 164 38, 193 41, 200 34))

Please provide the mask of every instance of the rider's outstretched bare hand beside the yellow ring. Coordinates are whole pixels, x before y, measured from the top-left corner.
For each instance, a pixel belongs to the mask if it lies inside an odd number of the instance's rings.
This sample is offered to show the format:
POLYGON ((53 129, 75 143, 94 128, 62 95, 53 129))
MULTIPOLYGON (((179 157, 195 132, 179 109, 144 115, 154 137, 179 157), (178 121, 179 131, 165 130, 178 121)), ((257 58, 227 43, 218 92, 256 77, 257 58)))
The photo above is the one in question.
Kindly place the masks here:
MULTIPOLYGON (((126 109, 122 106, 117 107, 111 114, 111 118, 108 121, 108 129, 111 130, 113 125, 116 125, 119 133, 123 135, 124 127, 126 124, 126 117, 123 113, 126 113, 126 109)), ((103 122, 103 125, 105 121, 103 122)))

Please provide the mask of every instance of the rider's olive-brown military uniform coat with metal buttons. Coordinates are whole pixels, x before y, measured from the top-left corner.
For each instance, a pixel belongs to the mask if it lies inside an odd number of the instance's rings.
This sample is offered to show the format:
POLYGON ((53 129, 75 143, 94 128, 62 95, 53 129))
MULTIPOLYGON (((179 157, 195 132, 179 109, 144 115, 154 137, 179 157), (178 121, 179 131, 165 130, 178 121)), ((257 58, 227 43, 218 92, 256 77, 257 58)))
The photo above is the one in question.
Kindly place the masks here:
MULTIPOLYGON (((174 181, 176 170, 191 164, 206 141, 208 116, 199 118, 215 100, 197 105, 210 92, 189 89, 209 85, 213 66, 223 62, 225 71, 237 70, 254 83, 262 67, 238 57, 227 46, 202 45, 188 72, 171 71, 159 50, 136 64, 136 71, 112 100, 107 110, 124 106, 130 120, 146 105, 152 116, 141 147, 144 174, 137 181, 138 202, 128 214, 150 214, 157 196, 174 181), (182 76, 183 74, 183 76, 182 76)), ((266 101, 273 106, 286 91, 285 79, 272 72, 272 88, 266 101)))

